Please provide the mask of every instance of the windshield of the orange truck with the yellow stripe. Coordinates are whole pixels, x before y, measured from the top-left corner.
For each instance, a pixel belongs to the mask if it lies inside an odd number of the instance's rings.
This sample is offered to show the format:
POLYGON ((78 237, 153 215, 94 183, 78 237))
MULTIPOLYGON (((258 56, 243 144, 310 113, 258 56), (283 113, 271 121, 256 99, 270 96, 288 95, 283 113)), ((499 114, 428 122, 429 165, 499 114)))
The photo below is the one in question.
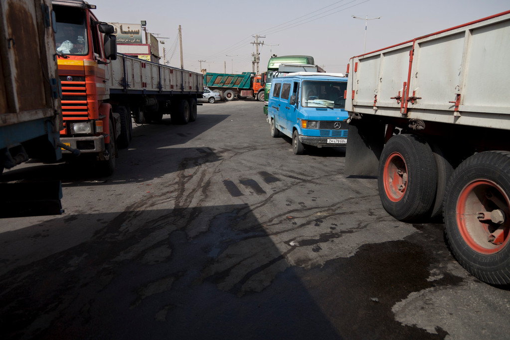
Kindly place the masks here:
POLYGON ((63 6, 54 6, 54 10, 57 19, 57 53, 81 56, 88 54, 85 12, 79 8, 63 6))

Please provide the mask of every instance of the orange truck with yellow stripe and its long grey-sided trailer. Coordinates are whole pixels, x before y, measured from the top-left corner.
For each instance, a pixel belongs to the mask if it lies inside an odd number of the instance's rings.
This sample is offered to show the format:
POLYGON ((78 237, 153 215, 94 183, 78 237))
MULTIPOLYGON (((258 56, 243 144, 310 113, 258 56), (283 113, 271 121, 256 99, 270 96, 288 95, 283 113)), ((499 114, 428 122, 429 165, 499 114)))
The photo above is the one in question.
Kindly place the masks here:
POLYGON ((136 122, 196 119, 203 75, 116 53, 114 28, 99 21, 83 0, 53 0, 62 81, 64 128, 60 139, 110 175, 118 148, 131 140, 136 122))

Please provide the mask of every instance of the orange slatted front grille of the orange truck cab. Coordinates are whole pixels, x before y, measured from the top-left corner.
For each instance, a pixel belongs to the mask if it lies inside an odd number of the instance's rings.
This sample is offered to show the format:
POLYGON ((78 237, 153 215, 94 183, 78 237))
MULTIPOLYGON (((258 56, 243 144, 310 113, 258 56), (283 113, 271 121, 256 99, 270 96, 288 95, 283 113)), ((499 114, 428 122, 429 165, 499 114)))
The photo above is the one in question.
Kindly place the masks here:
POLYGON ((61 76, 62 116, 64 120, 86 120, 87 89, 84 76, 61 76))

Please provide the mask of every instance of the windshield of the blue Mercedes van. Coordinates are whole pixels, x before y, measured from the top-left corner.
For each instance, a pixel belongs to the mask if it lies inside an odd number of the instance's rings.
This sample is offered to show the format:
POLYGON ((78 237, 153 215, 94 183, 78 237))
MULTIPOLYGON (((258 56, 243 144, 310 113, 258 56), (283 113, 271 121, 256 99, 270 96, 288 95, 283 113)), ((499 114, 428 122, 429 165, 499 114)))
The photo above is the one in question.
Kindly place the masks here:
POLYGON ((301 87, 301 106, 309 108, 344 109, 346 82, 304 81, 301 87))

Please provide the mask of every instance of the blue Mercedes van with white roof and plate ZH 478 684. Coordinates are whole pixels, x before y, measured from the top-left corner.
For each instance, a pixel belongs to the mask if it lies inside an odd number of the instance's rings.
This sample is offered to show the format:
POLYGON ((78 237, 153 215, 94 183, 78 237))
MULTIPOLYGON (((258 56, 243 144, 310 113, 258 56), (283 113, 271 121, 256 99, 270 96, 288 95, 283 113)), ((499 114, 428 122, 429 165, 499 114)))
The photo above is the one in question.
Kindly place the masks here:
POLYGON ((347 77, 341 73, 296 72, 274 78, 267 117, 271 136, 291 137, 295 154, 303 154, 305 145, 347 146, 346 90, 347 77))

